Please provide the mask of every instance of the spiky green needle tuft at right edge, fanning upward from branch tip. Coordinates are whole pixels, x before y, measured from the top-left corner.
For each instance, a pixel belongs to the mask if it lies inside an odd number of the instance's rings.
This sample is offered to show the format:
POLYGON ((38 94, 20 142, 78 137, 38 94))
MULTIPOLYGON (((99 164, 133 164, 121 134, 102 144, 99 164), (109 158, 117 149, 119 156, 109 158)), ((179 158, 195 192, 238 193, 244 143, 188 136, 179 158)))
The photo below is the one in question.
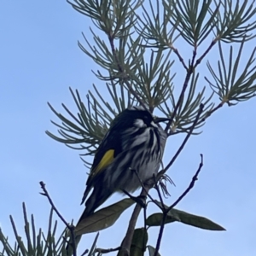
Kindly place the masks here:
POLYGON ((236 102, 247 101, 256 96, 256 48, 254 47, 252 50, 247 62, 242 61, 241 64, 241 56, 244 55, 244 51, 242 51, 244 44, 245 40, 241 42, 236 56, 233 55, 233 47, 230 46, 230 54, 226 56, 222 49, 222 44, 218 42, 220 55, 218 72, 209 61, 207 62, 207 67, 212 74, 214 84, 207 77, 205 79, 210 84, 214 93, 219 96, 222 103, 227 102, 229 106, 236 104, 236 102))

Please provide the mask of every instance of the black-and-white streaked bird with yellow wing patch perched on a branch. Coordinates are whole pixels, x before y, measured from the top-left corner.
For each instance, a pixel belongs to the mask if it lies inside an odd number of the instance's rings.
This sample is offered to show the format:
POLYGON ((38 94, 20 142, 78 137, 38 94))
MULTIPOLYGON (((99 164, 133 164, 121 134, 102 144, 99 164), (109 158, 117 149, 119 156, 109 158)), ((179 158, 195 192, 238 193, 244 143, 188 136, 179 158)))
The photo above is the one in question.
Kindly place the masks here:
POLYGON ((113 119, 96 150, 78 224, 113 193, 132 193, 157 174, 167 138, 159 123, 166 120, 170 119, 155 118, 141 105, 125 108, 113 119))

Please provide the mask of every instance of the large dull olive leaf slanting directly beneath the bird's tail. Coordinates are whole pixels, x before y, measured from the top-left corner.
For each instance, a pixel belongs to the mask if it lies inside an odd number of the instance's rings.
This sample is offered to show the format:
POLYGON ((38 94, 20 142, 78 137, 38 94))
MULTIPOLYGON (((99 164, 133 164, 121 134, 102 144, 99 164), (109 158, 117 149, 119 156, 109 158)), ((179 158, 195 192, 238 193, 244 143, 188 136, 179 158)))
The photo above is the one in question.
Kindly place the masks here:
POLYGON ((107 229, 112 226, 119 216, 134 203, 135 201, 131 198, 126 198, 109 207, 102 208, 89 217, 81 220, 74 230, 75 234, 80 236, 107 229))

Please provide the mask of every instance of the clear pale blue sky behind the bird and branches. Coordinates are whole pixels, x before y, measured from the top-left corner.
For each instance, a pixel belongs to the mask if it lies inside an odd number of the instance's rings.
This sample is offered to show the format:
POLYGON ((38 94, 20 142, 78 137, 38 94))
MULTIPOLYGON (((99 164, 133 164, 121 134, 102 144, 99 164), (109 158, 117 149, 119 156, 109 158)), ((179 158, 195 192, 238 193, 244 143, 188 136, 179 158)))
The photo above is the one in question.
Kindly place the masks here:
MULTIPOLYGON (((65 1, 2 1, 0 9, 0 224, 14 241, 9 214, 23 232, 21 203, 26 202, 37 228, 47 229, 49 203, 39 195, 39 181, 46 183, 55 205, 67 220, 77 221, 83 206, 86 168, 79 152, 56 143, 44 131, 55 132, 47 106, 64 113, 61 102, 76 111, 68 90, 79 89, 84 96, 96 84, 104 84, 91 73, 98 67, 77 46, 84 43, 81 32, 90 37, 90 20, 79 15, 65 1)), ((178 45, 187 55, 186 44, 178 45)), ((255 47, 247 44, 244 56, 255 47)), ((215 51, 216 55, 216 51, 215 51)), ((212 55, 213 57, 213 55, 212 55)), ((172 55, 172 58, 175 58, 172 55)), ((180 65, 180 63, 176 63, 180 65)), ((201 63, 207 73, 206 61, 201 63)), ((180 79, 183 79, 183 74, 180 79)), ((206 84, 204 82, 204 84, 206 84)), ((207 85, 207 84, 206 84, 207 85)), ((200 136, 191 137, 183 154, 168 172, 176 183, 169 188, 171 204, 188 186, 204 154, 204 166, 195 188, 177 209, 212 219, 225 232, 199 230, 175 223, 166 226, 161 255, 255 255, 256 211, 256 100, 220 109, 203 127, 200 136)), ((165 162, 172 157, 181 137, 167 145, 165 162)), ((113 195, 106 203, 118 201, 113 195)), ((150 211, 155 211, 152 207, 150 211)), ((131 209, 108 230, 103 230, 98 247, 117 247, 125 234, 131 209), (109 239, 111 234, 111 239, 109 239)), ((61 231, 61 222, 60 231, 61 231)), ((142 221, 137 225, 141 227, 142 221)), ((156 243, 158 229, 150 232, 149 244, 156 243)), ((95 234, 84 236, 83 247, 90 247, 95 234)))

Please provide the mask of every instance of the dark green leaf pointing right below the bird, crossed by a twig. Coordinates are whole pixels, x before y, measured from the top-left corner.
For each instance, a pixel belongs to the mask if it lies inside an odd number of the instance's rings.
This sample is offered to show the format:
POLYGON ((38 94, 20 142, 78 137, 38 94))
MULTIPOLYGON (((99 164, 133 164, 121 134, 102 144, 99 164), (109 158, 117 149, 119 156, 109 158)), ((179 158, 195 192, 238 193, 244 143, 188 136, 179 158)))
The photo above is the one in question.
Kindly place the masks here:
MULTIPOLYGON (((147 218, 146 224, 148 226, 160 226, 162 218, 163 213, 154 213, 147 218)), ((188 224, 197 228, 201 228, 203 230, 225 230, 222 226, 212 222, 212 220, 208 218, 197 216, 194 214, 190 214, 189 212, 183 212, 173 208, 170 212, 167 213, 165 224, 172 223, 174 221, 179 221, 183 224, 188 224)))

